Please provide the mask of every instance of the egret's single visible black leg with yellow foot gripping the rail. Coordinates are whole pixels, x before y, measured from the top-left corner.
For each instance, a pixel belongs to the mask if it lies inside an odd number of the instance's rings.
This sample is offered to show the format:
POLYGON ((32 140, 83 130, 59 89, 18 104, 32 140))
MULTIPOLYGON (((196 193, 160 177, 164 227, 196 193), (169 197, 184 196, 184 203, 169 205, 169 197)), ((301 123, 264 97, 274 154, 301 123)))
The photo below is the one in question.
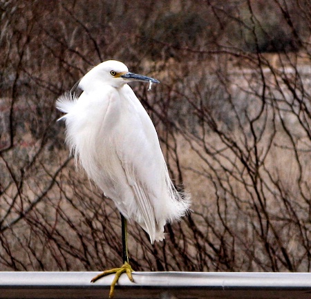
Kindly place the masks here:
POLYGON ((126 219, 124 216, 121 215, 121 224, 122 224, 122 253, 123 253, 123 265, 121 268, 106 270, 91 280, 91 282, 95 282, 96 280, 99 280, 100 278, 107 276, 109 274, 115 273, 115 278, 113 278, 113 282, 111 283, 110 292, 109 292, 109 298, 113 298, 113 293, 115 290, 115 284, 117 284, 117 280, 119 280, 122 273, 126 273, 127 277, 131 282, 133 282, 133 276, 132 272, 133 269, 131 265, 129 264, 129 255, 127 251, 127 229, 126 229, 126 219))

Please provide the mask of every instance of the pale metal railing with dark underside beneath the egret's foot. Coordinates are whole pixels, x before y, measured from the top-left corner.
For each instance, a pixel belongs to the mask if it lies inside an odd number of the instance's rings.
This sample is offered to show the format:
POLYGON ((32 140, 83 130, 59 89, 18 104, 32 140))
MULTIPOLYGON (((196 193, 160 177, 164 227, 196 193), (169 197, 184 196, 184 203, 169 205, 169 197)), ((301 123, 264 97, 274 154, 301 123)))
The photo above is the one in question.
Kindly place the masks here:
MULTIPOLYGON (((0 272, 0 298, 108 298, 112 276, 99 272, 0 272)), ((122 274, 117 298, 311 299, 311 273, 135 272, 122 274)))

